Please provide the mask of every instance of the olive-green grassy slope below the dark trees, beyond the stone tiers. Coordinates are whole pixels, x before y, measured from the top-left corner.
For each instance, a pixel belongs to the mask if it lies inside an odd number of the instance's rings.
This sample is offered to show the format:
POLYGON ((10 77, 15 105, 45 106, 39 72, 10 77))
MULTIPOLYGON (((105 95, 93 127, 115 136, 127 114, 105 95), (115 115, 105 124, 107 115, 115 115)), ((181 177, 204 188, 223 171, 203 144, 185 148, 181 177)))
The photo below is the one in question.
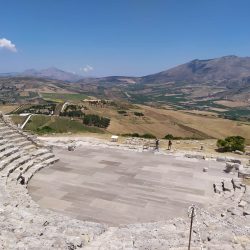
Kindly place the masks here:
POLYGON ((34 115, 25 126, 25 130, 32 131, 39 134, 45 133, 104 133, 103 130, 87 127, 81 121, 71 120, 65 117, 53 117, 44 115, 34 115), (44 130, 44 128, 50 130, 44 130))

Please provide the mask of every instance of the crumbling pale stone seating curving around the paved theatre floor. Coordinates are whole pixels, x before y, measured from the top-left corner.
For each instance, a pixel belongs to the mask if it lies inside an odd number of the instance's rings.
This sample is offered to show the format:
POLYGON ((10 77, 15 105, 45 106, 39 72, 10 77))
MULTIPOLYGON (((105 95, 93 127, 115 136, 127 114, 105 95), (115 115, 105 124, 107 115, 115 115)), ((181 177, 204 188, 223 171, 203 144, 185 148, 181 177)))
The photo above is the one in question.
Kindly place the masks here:
MULTIPOLYGON (((187 249, 188 217, 109 227, 40 208, 27 185, 58 160, 0 115, 0 249, 187 249)), ((250 249, 250 191, 233 182, 215 183, 208 209, 194 206, 191 249, 250 249)))

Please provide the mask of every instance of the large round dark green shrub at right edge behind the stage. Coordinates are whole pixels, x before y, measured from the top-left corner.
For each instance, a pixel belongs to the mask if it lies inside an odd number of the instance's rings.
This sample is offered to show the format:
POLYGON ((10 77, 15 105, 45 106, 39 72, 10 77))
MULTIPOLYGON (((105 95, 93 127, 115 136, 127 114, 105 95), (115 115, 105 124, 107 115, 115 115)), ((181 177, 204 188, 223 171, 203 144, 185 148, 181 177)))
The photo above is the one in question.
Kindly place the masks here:
POLYGON ((245 151, 245 138, 241 136, 229 136, 224 140, 217 141, 217 147, 222 152, 232 152, 235 150, 245 151))

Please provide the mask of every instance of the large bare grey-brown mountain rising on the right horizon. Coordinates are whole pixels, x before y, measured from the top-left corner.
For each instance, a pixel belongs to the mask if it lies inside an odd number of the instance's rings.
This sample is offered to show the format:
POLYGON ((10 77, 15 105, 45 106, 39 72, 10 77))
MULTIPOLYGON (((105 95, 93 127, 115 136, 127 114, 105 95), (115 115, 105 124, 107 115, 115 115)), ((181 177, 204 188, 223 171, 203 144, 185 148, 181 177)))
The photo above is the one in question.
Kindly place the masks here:
POLYGON ((141 78, 142 83, 163 82, 204 83, 238 81, 250 85, 250 57, 225 56, 193 60, 172 69, 141 78))

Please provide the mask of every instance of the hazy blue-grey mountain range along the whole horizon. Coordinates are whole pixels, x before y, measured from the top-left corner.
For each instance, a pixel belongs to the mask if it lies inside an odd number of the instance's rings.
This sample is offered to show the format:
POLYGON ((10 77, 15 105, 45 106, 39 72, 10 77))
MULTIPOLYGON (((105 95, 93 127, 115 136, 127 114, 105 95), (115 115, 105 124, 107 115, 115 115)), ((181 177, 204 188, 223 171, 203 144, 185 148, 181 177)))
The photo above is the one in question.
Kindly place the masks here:
POLYGON ((82 83, 230 83, 239 82, 249 84, 250 82, 250 57, 224 56, 215 59, 193 60, 191 62, 173 67, 171 69, 142 77, 110 76, 101 78, 84 78, 83 76, 66 72, 55 67, 35 70, 29 69, 22 73, 2 73, 2 77, 8 76, 30 76, 46 79, 54 79, 67 82, 82 83))

